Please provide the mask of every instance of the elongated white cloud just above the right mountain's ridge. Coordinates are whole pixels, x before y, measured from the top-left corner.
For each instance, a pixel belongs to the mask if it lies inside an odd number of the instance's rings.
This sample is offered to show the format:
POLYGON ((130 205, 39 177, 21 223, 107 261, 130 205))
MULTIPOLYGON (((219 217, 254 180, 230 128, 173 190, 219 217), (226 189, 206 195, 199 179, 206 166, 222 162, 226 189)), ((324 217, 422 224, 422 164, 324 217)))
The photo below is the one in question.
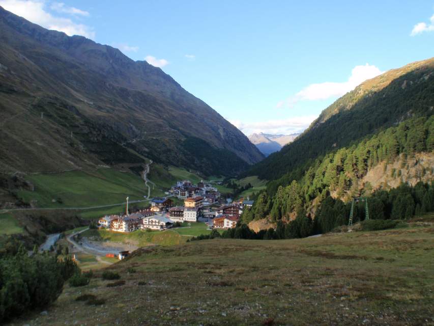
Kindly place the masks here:
POLYGON ((287 98, 285 101, 279 101, 276 107, 283 107, 284 104, 286 104, 288 107, 293 107, 297 102, 303 100, 315 101, 324 100, 331 97, 339 97, 352 91, 356 88, 356 86, 360 85, 365 80, 378 76, 382 73, 383 72, 379 68, 369 64, 364 66, 356 66, 351 71, 351 75, 346 82, 311 84, 302 89, 296 95, 287 98))

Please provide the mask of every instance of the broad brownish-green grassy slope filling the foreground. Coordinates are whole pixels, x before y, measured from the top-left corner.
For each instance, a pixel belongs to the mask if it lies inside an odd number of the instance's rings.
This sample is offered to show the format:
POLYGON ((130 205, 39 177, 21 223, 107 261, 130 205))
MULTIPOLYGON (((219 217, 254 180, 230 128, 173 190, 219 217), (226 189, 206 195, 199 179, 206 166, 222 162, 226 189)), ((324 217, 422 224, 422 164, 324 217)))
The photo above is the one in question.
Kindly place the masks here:
POLYGON ((37 317, 42 326, 63 325, 72 315, 87 325, 432 324, 433 254, 432 224, 143 248, 109 267, 124 285, 107 288, 93 278, 79 289, 66 286, 47 316, 35 312, 27 320, 37 317), (131 267, 136 273, 127 273, 131 267), (106 300, 92 314, 74 301, 89 292, 106 300))

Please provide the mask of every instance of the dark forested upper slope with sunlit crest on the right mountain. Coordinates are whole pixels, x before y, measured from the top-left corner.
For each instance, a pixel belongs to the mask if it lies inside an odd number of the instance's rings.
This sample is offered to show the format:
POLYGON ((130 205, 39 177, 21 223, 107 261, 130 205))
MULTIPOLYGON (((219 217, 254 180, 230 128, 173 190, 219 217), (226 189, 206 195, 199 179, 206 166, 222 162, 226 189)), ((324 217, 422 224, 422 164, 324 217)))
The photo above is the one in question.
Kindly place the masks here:
POLYGON ((293 143, 252 167, 263 179, 299 179, 314 159, 410 117, 434 114, 434 59, 367 80, 322 112, 293 143))

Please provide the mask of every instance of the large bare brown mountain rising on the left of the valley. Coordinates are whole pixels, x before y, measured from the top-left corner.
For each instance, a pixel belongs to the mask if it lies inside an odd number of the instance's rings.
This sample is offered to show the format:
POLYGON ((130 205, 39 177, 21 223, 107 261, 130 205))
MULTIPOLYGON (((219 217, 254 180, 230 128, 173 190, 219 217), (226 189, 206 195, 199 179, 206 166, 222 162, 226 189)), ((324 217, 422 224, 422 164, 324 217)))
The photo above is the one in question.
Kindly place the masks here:
POLYGON ((247 137, 146 61, 0 7, 0 171, 137 164, 204 174, 263 159, 247 137))

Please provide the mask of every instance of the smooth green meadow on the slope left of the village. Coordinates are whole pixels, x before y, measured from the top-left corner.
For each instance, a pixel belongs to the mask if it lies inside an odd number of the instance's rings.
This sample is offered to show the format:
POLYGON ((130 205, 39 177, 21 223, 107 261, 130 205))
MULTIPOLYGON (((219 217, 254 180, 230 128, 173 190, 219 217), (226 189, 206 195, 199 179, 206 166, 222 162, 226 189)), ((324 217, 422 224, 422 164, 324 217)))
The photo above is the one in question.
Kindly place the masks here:
POLYGON ((37 201, 38 207, 44 208, 108 205, 125 202, 127 196, 140 200, 147 194, 139 176, 113 169, 37 174, 26 179, 35 185, 35 191, 21 190, 18 196, 25 202, 37 201))

